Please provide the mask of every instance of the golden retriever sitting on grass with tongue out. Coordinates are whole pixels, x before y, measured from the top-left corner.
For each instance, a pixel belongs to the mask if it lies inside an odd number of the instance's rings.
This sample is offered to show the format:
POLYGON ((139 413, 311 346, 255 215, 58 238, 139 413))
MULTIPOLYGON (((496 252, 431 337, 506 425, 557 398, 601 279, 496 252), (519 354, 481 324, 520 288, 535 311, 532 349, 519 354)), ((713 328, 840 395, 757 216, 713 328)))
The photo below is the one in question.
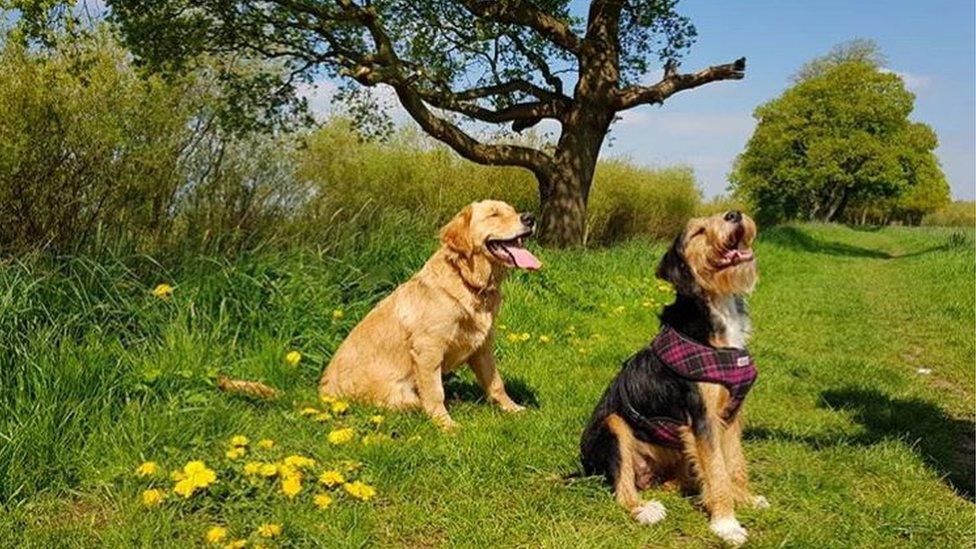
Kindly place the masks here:
POLYGON ((465 207, 441 229, 441 247, 410 280, 367 314, 339 346, 319 383, 321 396, 390 408, 421 407, 445 429, 443 374, 471 366, 502 410, 523 408, 495 368, 493 323, 510 268, 541 263, 523 247, 532 214, 497 200, 465 207))

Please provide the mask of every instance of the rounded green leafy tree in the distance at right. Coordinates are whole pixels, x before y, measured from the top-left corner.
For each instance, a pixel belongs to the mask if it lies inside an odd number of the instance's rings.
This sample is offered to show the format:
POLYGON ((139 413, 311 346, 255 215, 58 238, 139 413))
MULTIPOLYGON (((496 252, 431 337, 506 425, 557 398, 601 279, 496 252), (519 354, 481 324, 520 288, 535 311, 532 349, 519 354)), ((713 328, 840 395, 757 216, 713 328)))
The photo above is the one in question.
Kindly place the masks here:
POLYGON ((868 42, 836 48, 756 109, 730 176, 734 195, 767 222, 836 221, 851 207, 907 206, 899 199, 909 196, 927 208, 941 199, 923 196, 947 195, 935 133, 908 119, 915 97, 880 59, 868 42))

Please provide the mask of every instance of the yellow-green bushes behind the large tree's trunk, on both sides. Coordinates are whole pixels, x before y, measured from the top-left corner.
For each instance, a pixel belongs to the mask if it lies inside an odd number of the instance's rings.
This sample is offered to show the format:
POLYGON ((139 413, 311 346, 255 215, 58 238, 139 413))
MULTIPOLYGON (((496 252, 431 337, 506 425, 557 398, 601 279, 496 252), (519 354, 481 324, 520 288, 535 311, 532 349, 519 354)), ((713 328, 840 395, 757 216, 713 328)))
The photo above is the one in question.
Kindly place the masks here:
MULTIPOLYGON (((538 210, 535 178, 526 170, 473 164, 416 131, 390 142, 362 143, 342 120, 311 134, 297 177, 318 194, 301 223, 345 219, 349 212, 409 212, 433 231, 464 205, 484 198, 538 210)), ((649 169, 602 161, 589 199, 587 240, 606 244, 633 236, 670 236, 700 201, 688 168, 649 169)))

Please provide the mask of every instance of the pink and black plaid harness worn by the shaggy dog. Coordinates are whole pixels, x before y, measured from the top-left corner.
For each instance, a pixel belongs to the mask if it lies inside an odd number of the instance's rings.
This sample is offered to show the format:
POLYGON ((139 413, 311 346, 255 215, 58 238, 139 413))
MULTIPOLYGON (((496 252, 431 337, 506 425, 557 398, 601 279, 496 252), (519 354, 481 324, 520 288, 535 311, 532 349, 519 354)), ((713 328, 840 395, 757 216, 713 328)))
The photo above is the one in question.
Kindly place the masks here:
MULTIPOLYGON (((724 421, 730 421, 739 412, 758 375, 756 363, 745 349, 702 345, 667 325, 661 326, 660 333, 651 342, 651 350, 668 369, 685 379, 724 385, 730 396, 721 414, 724 421)), ((668 417, 642 419, 655 442, 681 448, 678 428, 690 423, 687 418, 684 422, 668 417)))

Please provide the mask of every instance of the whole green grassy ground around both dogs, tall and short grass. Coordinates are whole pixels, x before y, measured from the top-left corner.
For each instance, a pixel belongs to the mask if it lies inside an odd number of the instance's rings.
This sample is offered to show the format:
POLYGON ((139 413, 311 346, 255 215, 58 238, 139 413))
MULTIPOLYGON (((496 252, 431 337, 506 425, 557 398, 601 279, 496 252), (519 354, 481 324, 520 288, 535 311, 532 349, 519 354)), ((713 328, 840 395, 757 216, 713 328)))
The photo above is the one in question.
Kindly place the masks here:
MULTIPOLYGON (((745 449, 772 508, 740 513, 753 546, 972 545, 973 232, 954 234, 763 234, 745 449)), ((246 535, 262 522, 282 523, 278 542, 290 546, 715 545, 691 500, 649 493, 669 515, 642 527, 600 481, 574 476, 592 407, 657 328, 661 244, 542 250, 542 272, 512 277, 497 354, 510 392, 530 404, 524 414, 484 404, 467 373, 448 383, 454 435, 420 414, 386 414, 392 442, 330 446, 332 424, 297 414, 315 402, 342 336, 432 246, 380 228, 343 260, 0 266, 0 546, 186 546, 215 523, 246 535), (148 295, 161 281, 176 285, 172 299, 148 295), (333 320, 337 308, 345 317, 333 320), (505 335, 523 332, 532 339, 505 335), (291 349, 305 355, 295 367, 282 361, 291 349), (259 404, 219 393, 218 371, 285 394, 259 404), (320 511, 309 493, 246 493, 223 459, 235 434, 325 464, 361 460, 379 496, 320 511), (142 460, 172 469, 191 458, 223 482, 186 502, 139 505, 142 460)), ((364 428, 371 413, 354 408, 339 422, 364 428)))

